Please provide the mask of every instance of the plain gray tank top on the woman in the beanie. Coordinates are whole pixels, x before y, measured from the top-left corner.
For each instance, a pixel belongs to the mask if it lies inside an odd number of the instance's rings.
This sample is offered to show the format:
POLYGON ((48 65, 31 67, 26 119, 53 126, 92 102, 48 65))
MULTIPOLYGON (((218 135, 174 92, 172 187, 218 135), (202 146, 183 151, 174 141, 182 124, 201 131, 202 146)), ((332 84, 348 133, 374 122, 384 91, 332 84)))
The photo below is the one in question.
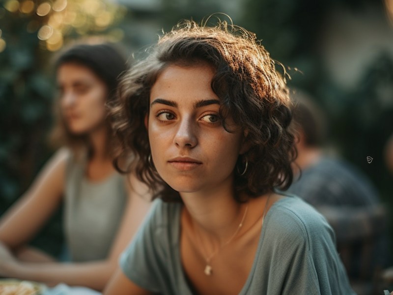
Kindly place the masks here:
POLYGON ((100 182, 85 177, 86 160, 67 163, 64 233, 73 262, 108 257, 127 200, 125 177, 117 172, 100 182))

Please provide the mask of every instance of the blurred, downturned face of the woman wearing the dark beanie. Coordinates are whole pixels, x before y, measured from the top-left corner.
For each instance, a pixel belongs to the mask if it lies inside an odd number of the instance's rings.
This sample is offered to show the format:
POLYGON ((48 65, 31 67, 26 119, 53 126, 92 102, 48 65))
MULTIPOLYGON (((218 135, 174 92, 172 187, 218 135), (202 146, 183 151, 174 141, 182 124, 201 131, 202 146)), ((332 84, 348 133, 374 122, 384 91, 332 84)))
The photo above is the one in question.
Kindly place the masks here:
POLYGON ((61 114, 71 133, 86 134, 105 126, 106 84, 84 65, 64 63, 57 69, 61 114))

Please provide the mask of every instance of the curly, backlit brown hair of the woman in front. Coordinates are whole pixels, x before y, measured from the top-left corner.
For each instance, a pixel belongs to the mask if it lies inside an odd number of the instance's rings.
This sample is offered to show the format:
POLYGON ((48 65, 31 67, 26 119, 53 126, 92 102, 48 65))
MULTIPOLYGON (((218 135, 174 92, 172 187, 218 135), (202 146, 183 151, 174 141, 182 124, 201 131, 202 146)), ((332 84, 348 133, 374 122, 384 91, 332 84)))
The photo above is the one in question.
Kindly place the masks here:
POLYGON ((291 122, 291 101, 284 75, 276 62, 245 29, 218 22, 214 27, 182 21, 164 34, 150 54, 139 61, 119 84, 117 104, 112 105, 112 123, 121 146, 115 165, 119 171, 135 171, 149 185, 154 197, 180 201, 178 192, 158 175, 150 160, 144 119, 149 112, 150 90, 168 65, 193 66, 207 62, 215 69, 211 82, 221 100, 220 115, 230 116, 245 130, 250 148, 239 156, 234 170, 235 198, 257 197, 275 187, 286 189, 292 182, 291 162, 296 157, 291 122), (133 160, 120 169, 120 159, 133 160), (248 167, 242 171, 245 162, 248 167), (240 170, 240 173, 239 173, 240 170))

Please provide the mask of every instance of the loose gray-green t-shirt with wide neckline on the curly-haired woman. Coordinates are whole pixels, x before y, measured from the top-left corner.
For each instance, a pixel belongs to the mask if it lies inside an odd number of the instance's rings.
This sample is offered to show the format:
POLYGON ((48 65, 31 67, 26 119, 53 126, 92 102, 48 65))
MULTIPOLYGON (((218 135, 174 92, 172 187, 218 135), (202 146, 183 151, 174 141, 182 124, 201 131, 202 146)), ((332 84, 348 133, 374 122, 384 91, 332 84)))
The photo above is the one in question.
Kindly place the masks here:
MULTIPOLYGON (((192 295, 180 258, 182 205, 156 200, 120 258, 125 275, 156 294, 192 295)), ((267 212, 248 279, 240 295, 353 295, 326 220, 298 197, 267 212)))

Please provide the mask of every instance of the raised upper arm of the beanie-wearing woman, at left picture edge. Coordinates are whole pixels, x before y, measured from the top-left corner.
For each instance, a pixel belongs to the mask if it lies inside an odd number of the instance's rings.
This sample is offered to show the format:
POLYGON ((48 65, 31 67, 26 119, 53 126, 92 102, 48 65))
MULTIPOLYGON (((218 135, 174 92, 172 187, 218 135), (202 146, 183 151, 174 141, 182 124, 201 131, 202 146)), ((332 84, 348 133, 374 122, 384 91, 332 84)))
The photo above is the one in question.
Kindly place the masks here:
POLYGON ((0 241, 11 250, 27 243, 58 207, 68 154, 58 150, 28 191, 1 216, 0 241))

